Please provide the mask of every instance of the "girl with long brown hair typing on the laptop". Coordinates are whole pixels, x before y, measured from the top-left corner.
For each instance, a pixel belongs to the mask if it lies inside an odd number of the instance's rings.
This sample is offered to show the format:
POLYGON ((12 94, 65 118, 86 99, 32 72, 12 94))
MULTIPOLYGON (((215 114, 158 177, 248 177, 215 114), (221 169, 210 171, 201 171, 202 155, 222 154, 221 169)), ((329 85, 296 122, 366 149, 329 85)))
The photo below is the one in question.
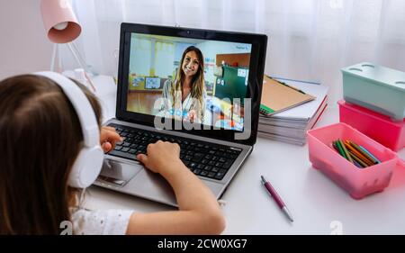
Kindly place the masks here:
MULTIPOLYGON (((100 123, 101 108, 85 93, 100 123)), ((101 128, 104 152, 121 138, 101 128)), ((148 146, 138 159, 173 186, 179 211, 87 211, 79 189, 67 185, 83 134, 67 96, 47 77, 24 75, 0 82, 0 234, 59 234, 71 221, 75 234, 219 234, 224 218, 211 191, 168 142, 148 146)))

